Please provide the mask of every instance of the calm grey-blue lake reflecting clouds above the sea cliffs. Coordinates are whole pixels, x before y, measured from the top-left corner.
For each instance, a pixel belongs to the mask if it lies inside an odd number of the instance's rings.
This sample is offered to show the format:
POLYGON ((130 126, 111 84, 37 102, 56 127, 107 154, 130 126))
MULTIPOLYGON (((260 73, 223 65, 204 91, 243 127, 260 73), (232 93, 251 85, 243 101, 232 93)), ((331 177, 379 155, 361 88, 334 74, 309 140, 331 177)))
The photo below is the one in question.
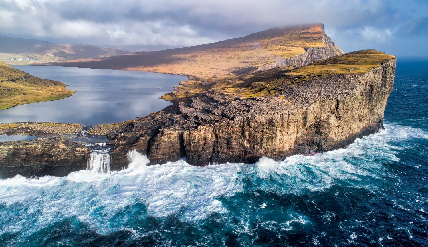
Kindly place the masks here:
POLYGON ((146 116, 170 105, 159 97, 187 77, 142 71, 50 66, 13 66, 36 77, 63 82, 73 96, 0 111, 0 122, 68 122, 97 125, 146 116), (157 89, 160 88, 160 89, 157 89))

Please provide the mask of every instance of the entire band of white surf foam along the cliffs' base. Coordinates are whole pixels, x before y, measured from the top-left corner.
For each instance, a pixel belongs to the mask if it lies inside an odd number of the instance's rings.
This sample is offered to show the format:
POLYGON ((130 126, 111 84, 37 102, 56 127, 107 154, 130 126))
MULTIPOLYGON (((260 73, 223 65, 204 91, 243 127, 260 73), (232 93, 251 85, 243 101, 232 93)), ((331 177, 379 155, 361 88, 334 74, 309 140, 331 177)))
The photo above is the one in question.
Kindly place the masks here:
MULTIPOLYGON (((347 149, 294 155, 282 162, 262 158, 256 165, 195 167, 181 160, 148 166, 145 155, 131 151, 129 167, 121 171, 98 174, 82 170, 63 178, 16 176, 0 180, 0 204, 32 206, 26 215, 2 220, 6 224, 0 226, 0 231, 20 231, 25 221, 25 229, 31 234, 29 226, 36 231, 59 218, 75 217, 100 233, 109 233, 125 222, 146 217, 128 217, 124 213, 131 214, 135 204, 144 205, 146 214, 154 217, 177 215, 183 221, 200 220, 227 212, 229 208, 221 198, 243 191, 243 179, 254 183, 255 189, 284 194, 323 190, 338 180, 358 182, 376 177, 385 169, 383 164, 398 160, 395 154, 401 147, 391 143, 412 138, 428 138, 428 134, 415 128, 386 125, 386 131, 358 139, 347 149), (269 182, 271 179, 275 181, 269 182)), ((264 207, 265 204, 260 206, 264 207)), ((305 224, 308 219, 297 215, 287 222, 263 224, 289 230, 292 224, 305 224)))

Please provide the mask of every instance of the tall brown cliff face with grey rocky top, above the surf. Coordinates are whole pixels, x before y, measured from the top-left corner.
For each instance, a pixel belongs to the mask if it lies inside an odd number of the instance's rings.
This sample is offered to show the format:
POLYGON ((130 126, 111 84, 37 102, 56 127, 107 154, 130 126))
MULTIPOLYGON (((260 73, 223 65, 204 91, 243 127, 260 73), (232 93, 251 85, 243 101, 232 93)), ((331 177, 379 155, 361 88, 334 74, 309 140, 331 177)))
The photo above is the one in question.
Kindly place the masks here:
POLYGON ((332 74, 295 86, 280 97, 229 100, 210 93, 166 107, 110 134, 116 164, 136 149, 151 164, 187 156, 193 165, 252 163, 266 156, 338 149, 383 128, 395 60, 369 73, 332 74))

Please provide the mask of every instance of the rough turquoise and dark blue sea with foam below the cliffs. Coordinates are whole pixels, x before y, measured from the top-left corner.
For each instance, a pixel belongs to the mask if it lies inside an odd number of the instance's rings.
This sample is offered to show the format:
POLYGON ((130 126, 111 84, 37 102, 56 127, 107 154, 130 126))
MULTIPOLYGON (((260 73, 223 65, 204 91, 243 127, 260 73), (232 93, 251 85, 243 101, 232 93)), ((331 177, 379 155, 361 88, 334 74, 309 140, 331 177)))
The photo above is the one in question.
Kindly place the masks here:
POLYGON ((427 246, 427 81, 398 58, 386 130, 346 149, 0 180, 0 246, 427 246))

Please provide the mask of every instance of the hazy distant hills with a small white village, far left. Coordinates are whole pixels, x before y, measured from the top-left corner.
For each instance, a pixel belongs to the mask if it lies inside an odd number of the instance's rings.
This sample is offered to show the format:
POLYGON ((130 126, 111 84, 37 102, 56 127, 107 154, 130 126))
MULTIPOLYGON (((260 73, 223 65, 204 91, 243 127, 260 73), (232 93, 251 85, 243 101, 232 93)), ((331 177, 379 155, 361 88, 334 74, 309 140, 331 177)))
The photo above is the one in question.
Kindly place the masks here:
POLYGON ((30 64, 36 61, 100 58, 122 54, 129 54, 129 52, 91 45, 55 44, 38 39, 0 36, 0 60, 9 65, 30 64), (14 58, 27 58, 28 60, 10 60, 14 58))

